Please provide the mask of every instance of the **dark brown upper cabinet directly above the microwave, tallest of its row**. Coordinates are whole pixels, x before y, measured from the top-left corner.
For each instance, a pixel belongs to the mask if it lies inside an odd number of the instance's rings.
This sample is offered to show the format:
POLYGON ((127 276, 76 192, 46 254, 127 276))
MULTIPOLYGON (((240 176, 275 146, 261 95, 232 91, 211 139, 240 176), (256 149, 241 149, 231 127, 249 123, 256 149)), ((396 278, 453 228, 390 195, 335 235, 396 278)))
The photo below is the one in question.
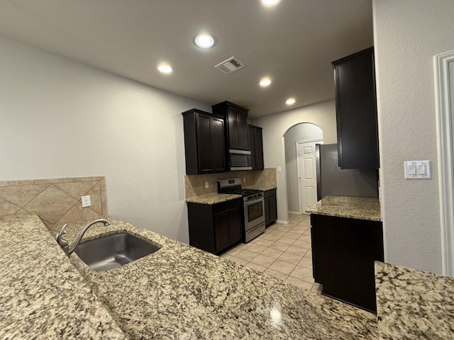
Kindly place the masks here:
POLYGON ((213 113, 226 119, 226 140, 228 149, 250 150, 248 109, 230 101, 223 101, 214 106, 213 113))

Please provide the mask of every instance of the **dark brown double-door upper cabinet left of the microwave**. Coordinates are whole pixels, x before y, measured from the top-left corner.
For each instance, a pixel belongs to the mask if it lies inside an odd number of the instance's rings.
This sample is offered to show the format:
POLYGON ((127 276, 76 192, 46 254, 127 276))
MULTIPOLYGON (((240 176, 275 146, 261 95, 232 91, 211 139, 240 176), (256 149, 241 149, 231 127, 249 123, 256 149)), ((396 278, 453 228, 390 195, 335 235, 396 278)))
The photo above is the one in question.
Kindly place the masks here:
POLYGON ((192 110, 182 113, 186 174, 211 174, 226 171, 223 117, 192 110))

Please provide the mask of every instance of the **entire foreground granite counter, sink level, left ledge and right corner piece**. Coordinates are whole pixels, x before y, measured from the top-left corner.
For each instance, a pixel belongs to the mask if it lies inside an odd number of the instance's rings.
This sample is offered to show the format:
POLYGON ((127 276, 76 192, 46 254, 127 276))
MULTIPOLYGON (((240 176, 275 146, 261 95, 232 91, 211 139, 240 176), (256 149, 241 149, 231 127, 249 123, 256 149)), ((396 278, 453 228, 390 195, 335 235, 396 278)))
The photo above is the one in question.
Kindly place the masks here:
MULTIPOLYGON (((35 214, 0 219, 1 339, 454 338, 453 278, 375 263, 377 317, 106 218, 82 242, 128 232, 160 249, 98 272, 35 214)), ((67 227, 70 241, 86 222, 67 227)))

